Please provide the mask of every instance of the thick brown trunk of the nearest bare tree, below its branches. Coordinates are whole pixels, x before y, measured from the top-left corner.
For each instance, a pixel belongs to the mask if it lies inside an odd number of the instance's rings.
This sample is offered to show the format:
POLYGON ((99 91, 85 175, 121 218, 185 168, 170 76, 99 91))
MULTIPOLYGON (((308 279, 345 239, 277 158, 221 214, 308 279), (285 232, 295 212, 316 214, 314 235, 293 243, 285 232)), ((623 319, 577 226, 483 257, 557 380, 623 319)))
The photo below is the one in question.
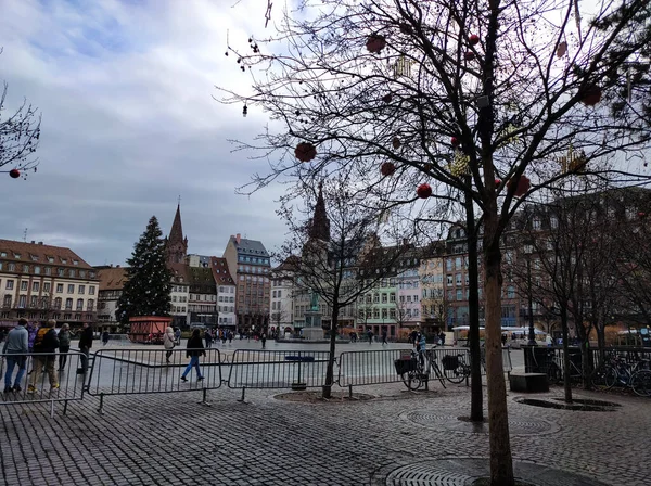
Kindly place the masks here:
POLYGON ((490 485, 513 486, 513 459, 509 437, 507 387, 501 350, 501 270, 496 207, 485 213, 484 291, 486 294, 486 379, 488 381, 488 427, 490 485))

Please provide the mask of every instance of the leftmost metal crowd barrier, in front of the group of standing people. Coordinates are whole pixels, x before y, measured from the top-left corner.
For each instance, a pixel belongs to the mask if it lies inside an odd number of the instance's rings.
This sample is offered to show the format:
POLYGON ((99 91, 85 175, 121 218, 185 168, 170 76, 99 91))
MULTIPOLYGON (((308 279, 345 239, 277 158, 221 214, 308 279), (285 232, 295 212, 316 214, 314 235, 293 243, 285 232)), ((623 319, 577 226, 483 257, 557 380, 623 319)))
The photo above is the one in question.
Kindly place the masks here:
POLYGON ((50 414, 53 417, 55 402, 63 402, 65 414, 68 401, 84 398, 84 374, 77 374, 82 360, 87 359, 82 353, 72 350, 0 356, 3 391, 0 405, 50 404, 50 414), (8 383, 11 391, 4 392, 8 383))

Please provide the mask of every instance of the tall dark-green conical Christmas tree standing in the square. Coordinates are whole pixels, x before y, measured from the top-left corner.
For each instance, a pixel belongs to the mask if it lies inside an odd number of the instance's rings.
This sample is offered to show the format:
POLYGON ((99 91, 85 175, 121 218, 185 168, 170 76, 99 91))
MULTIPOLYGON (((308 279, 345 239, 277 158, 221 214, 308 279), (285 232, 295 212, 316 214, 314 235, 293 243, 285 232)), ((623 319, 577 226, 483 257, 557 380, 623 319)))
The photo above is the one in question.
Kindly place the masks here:
POLYGON ((133 316, 168 316, 170 310, 170 274, 165 265, 165 241, 155 216, 133 247, 127 260, 128 281, 118 302, 120 322, 133 316))

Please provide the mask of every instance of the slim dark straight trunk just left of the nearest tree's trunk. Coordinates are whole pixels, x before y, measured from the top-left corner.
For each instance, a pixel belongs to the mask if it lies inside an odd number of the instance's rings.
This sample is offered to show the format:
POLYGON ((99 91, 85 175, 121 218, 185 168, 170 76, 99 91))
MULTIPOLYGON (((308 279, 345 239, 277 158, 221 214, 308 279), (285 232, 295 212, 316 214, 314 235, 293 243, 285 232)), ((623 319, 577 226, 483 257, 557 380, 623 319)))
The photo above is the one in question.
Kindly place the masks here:
MULTIPOLYGON (((470 176, 467 184, 470 187, 470 176)), ((484 421, 484 397, 482 392, 482 349, 480 346, 480 270, 477 265, 477 235, 475 233, 472 196, 465 192, 465 229, 468 232, 468 318, 470 329, 470 420, 484 421)))

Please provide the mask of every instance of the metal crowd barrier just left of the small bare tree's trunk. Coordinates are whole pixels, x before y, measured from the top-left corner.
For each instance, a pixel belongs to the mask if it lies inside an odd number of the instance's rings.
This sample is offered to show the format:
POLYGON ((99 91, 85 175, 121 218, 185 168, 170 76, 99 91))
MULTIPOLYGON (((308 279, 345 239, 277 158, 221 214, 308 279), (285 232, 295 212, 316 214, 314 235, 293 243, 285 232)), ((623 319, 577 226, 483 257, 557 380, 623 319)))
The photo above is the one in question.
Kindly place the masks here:
MULTIPOLYGON (((229 388, 306 389, 326 385, 329 351, 237 349, 231 358, 229 388)), ((336 364, 336 363, 335 363, 336 364)))

